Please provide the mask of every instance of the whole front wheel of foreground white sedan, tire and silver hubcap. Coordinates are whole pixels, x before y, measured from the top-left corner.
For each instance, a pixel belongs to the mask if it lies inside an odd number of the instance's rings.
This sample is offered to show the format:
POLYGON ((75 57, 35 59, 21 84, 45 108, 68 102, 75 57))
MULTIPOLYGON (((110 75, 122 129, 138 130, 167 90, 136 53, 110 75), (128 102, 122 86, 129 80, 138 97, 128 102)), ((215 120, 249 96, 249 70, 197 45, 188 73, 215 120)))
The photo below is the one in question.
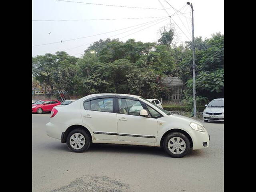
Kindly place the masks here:
POLYGON ((164 150, 174 158, 185 156, 190 149, 188 137, 180 132, 172 132, 164 138, 164 150))

